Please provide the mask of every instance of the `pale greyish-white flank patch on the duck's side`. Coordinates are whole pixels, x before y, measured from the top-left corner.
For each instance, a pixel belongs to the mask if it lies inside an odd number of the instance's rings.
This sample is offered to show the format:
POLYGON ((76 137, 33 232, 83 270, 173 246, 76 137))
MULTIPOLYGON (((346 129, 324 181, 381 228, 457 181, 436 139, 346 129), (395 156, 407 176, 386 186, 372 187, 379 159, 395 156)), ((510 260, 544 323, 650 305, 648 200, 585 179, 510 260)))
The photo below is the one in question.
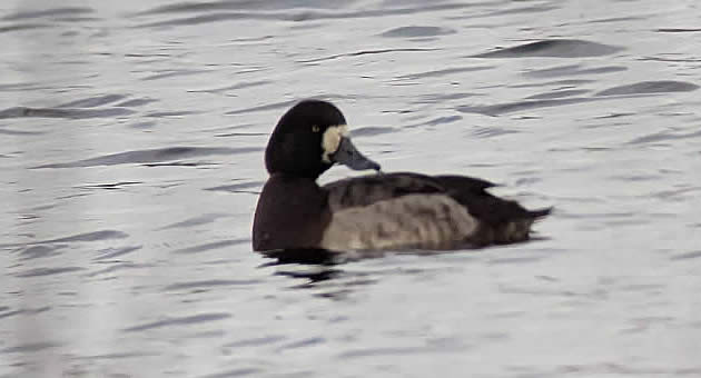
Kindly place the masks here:
POLYGON ((320 246, 330 250, 446 249, 477 229, 467 208, 445 195, 406 195, 332 215, 320 246))

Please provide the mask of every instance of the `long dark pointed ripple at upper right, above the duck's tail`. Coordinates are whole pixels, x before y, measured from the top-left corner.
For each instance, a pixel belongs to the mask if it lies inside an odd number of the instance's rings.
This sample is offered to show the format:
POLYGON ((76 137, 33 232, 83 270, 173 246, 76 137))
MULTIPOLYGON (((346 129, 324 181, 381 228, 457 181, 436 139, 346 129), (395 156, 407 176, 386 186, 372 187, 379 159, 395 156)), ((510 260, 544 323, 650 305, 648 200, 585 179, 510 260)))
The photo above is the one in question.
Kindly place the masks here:
POLYGON ((589 42, 579 39, 547 39, 480 53, 472 56, 472 58, 583 58, 609 56, 623 50, 624 49, 621 47, 589 42))

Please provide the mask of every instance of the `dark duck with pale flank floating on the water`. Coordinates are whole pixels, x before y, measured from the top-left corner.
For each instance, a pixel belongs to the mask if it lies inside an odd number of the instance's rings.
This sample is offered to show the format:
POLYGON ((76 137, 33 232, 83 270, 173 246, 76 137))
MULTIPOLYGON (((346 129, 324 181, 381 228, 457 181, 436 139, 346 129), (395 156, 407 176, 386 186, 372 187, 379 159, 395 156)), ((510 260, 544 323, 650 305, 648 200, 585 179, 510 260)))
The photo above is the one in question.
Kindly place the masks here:
POLYGON ((294 105, 265 149, 268 180, 253 221, 253 249, 451 250, 526 241, 552 208, 527 210, 491 195, 487 180, 384 172, 352 142, 342 111, 324 100, 294 105), (320 186, 334 165, 372 170, 320 186))

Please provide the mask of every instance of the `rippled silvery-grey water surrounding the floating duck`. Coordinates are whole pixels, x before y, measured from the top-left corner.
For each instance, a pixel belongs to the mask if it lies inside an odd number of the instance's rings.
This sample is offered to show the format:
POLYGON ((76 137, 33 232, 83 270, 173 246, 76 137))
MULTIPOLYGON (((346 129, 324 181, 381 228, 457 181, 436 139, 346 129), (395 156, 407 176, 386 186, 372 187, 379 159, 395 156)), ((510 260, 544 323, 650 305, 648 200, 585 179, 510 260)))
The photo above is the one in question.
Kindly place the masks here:
POLYGON ((700 377, 700 24, 697 0, 3 1, 0 377, 700 377), (276 263, 263 149, 309 97, 387 171, 556 211, 527 243, 276 263))

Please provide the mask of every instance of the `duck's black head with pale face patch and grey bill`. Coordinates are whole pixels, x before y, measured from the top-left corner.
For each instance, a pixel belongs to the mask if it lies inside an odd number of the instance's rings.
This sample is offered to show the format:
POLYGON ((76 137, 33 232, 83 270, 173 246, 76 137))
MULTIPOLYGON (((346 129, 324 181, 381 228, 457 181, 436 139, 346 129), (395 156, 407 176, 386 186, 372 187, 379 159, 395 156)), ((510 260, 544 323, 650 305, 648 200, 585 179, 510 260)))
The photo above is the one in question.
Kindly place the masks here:
POLYGON ((304 100, 287 110, 265 150, 270 175, 316 179, 336 162, 355 170, 379 170, 350 142, 340 110, 320 100, 304 100))

